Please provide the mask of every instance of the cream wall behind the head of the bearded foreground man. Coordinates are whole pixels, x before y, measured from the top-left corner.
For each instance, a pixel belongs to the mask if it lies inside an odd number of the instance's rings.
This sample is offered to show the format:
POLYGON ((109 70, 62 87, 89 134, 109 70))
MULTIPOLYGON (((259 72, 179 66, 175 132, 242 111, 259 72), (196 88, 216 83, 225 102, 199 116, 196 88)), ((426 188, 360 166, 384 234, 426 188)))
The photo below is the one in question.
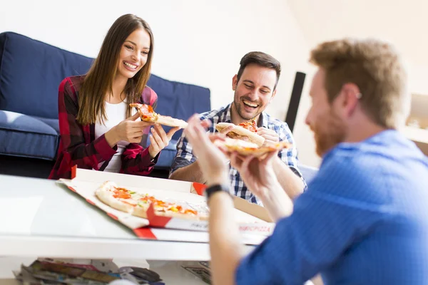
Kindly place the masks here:
MULTIPOLYGON (((409 92, 428 95, 427 0, 287 0, 287 4, 309 48, 344 37, 389 41, 406 63, 409 92)), ((314 71, 309 71, 311 78, 314 71)), ((315 165, 320 159, 315 155, 312 133, 303 124, 310 105, 309 83, 297 114, 295 138, 300 145, 300 160, 315 165)))

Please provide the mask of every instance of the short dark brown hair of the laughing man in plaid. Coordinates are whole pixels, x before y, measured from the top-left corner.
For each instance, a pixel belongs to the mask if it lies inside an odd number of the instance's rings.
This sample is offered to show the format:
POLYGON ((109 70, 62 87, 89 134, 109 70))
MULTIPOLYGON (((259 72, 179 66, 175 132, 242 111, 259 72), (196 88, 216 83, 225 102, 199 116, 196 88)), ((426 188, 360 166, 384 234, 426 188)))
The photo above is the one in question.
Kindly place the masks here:
POLYGON ((275 82, 275 87, 273 88, 275 90, 277 83, 280 80, 281 63, 277 61, 273 56, 270 56, 267 53, 263 53, 261 51, 250 51, 249 53, 245 54, 243 58, 241 58, 239 64, 240 68, 237 75, 238 81, 243 75, 245 67, 247 67, 249 64, 256 64, 258 66, 275 69, 277 73, 277 80, 275 82))

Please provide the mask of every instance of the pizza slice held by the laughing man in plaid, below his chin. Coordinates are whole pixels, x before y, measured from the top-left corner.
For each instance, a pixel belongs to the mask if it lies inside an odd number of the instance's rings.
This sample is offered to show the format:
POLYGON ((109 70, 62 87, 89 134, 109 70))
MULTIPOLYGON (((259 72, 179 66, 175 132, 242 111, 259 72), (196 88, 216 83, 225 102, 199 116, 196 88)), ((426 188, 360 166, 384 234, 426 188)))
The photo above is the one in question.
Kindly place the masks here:
POLYGON ((257 123, 255 119, 240 123, 239 125, 234 125, 233 123, 218 123, 215 125, 215 129, 221 132, 229 126, 233 126, 233 130, 230 130, 227 134, 229 138, 238 140, 247 139, 249 142, 253 142, 259 147, 265 142, 265 138, 257 134, 257 123))

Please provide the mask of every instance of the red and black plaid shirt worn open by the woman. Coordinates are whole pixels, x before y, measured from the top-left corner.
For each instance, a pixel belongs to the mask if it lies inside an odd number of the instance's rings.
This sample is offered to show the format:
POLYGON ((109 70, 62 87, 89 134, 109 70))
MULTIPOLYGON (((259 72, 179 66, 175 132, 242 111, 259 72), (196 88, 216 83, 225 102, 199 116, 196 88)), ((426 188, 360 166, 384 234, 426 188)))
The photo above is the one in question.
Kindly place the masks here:
MULTIPOLYGON (((78 113, 78 92, 84 76, 65 78, 58 90, 58 119, 61 139, 58 155, 49 179, 70 178, 71 167, 100 170, 98 164, 111 160, 116 153, 117 146, 110 147, 104 135, 95 139, 95 124, 80 125, 76 121, 78 113)), ((152 105, 156 108, 158 95, 151 88, 146 87, 138 103, 152 105)), ((146 144, 147 128, 141 144, 146 144)), ((158 157, 158 156, 157 156, 158 157)), ((156 163, 151 161, 148 147, 130 143, 121 155, 121 173, 133 175, 148 175, 156 163)))

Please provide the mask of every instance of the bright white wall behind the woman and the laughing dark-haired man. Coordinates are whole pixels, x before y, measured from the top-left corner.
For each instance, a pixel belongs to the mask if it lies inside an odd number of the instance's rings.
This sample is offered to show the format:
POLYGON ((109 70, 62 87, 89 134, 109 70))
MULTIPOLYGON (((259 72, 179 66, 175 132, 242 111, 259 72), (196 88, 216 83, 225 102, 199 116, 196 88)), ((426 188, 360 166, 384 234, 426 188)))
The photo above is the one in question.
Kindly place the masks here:
POLYGON ((281 120, 295 72, 308 68, 305 39, 284 0, 7 1, 0 9, 0 31, 91 57, 118 16, 141 16, 155 36, 153 74, 210 88, 213 108, 233 99, 232 77, 248 51, 265 51, 282 63, 277 96, 268 108, 281 120))

